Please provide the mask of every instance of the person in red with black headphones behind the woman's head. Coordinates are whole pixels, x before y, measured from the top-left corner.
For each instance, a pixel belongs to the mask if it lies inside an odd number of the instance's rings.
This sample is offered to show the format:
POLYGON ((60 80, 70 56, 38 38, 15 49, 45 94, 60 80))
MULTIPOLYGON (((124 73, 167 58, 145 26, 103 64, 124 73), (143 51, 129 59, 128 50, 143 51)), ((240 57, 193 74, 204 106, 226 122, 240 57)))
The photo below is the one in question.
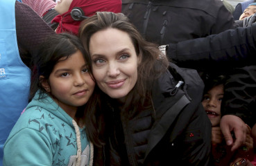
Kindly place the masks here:
POLYGON ((77 35, 80 22, 97 11, 121 12, 121 0, 23 0, 46 21, 56 33, 77 35))

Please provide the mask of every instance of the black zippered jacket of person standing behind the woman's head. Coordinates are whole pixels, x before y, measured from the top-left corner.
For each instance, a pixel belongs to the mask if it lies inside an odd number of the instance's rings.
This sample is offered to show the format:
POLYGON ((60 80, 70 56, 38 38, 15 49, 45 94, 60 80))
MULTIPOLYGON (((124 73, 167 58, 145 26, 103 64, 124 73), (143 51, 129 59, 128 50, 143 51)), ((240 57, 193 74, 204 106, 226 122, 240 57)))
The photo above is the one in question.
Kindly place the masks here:
POLYGON ((146 40, 159 45, 206 37, 235 26, 232 14, 216 0, 123 0, 122 12, 146 40))

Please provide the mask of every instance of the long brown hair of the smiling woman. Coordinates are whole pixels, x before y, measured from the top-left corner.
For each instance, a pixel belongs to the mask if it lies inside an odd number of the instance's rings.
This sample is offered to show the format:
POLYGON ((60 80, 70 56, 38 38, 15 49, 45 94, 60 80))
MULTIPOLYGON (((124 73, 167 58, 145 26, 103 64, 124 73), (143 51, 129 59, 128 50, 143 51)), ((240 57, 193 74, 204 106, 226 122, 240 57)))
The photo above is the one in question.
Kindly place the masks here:
MULTIPOLYGON (((144 109, 145 102, 151 100, 151 89, 153 83, 165 72, 169 66, 167 57, 160 56, 162 53, 155 44, 146 42, 146 40, 139 34, 138 30, 130 23, 128 17, 121 13, 114 12, 96 12, 96 15, 85 19, 80 24, 78 36, 83 42, 83 46, 86 52, 89 54, 89 42, 94 35, 101 30, 107 28, 115 28, 127 33, 133 42, 137 56, 141 59, 138 66, 137 83, 130 93, 126 96, 126 102, 122 106, 125 115, 134 115, 139 110, 144 109), (157 67, 156 67, 157 66, 157 67)), ((108 101, 111 100, 105 95, 99 87, 94 89, 96 94, 96 104, 94 108, 86 111, 85 123, 87 124, 87 134, 94 142, 95 145, 100 145, 101 137, 99 134, 104 130, 105 122, 103 118, 103 100, 100 100, 102 96, 106 96, 108 101), (100 98, 101 97, 101 98, 100 98)), ((105 102, 106 99, 104 99, 105 102)), ((123 112, 122 111, 122 112, 123 112)))

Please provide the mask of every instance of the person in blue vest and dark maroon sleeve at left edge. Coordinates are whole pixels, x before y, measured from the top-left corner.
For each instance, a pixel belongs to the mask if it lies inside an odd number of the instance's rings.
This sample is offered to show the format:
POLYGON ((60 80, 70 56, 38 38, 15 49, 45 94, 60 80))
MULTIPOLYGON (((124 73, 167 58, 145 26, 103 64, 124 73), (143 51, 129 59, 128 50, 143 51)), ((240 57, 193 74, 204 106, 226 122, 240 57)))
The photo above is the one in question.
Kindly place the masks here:
POLYGON ((0 0, 0 165, 3 145, 28 104, 32 59, 54 31, 29 6, 0 0))

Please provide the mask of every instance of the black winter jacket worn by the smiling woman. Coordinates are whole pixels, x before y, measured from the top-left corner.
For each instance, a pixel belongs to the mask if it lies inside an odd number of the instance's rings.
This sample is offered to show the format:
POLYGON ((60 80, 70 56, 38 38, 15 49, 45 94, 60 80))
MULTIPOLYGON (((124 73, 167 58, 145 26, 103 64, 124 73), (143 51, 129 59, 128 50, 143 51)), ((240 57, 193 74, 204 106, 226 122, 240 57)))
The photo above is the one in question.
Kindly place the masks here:
POLYGON ((128 122, 120 120, 119 110, 105 110, 116 137, 109 134, 104 147, 95 147, 94 165, 208 164, 211 123, 201 104, 203 82, 195 70, 171 64, 169 71, 152 91, 154 110, 128 122), (178 81, 185 83, 176 87, 178 81))

